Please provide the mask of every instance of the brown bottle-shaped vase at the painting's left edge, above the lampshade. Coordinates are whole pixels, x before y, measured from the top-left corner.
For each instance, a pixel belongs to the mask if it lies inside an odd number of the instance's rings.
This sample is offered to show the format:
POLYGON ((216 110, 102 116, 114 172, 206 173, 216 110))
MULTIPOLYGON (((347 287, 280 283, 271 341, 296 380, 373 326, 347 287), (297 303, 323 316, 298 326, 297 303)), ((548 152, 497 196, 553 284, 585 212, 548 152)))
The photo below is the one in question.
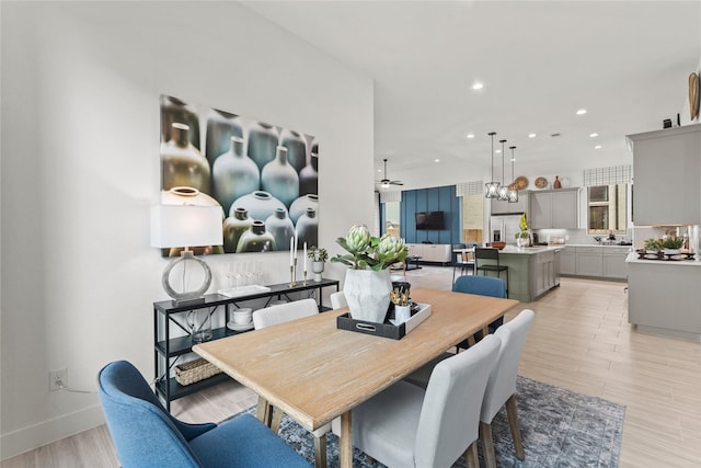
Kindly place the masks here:
POLYGON ((189 126, 172 125, 171 139, 161 147, 162 189, 189 186, 209 193, 209 161, 189 142, 189 126))

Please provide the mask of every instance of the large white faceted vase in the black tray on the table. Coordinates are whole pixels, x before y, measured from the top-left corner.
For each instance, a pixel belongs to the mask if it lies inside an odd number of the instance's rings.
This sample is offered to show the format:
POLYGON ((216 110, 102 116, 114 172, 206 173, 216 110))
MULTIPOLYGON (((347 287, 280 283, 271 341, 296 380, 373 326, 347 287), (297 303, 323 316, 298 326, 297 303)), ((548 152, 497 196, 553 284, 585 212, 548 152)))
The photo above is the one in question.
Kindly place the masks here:
POLYGON ((343 294, 355 320, 382 323, 390 305, 392 279, 388 270, 348 270, 343 294))

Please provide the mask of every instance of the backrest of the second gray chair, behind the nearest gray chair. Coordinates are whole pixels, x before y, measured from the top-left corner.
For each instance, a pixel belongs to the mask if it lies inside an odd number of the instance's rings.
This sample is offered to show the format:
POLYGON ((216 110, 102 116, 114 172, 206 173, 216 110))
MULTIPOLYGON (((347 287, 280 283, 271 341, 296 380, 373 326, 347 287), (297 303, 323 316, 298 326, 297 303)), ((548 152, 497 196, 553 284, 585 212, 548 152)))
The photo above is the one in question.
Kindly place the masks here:
POLYGON ((508 398, 516 393, 516 375, 521 351, 536 315, 530 309, 522 310, 513 320, 504 323, 494 333, 502 340, 498 361, 490 375, 484 392, 480 419, 491 423, 508 398))

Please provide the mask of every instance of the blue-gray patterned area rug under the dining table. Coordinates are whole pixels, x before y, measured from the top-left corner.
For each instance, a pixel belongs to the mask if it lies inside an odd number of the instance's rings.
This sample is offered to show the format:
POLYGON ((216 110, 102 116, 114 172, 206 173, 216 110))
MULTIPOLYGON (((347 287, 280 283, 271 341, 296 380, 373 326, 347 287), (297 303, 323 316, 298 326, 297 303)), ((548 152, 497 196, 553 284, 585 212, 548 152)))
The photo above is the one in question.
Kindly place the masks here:
MULTIPOLYGON (((506 410, 502 409, 492 422, 499 468, 618 467, 624 407, 520 376, 516 387, 526 459, 521 461, 514 455, 506 410)), ((255 408, 248 410, 254 411, 255 408)), ((285 415, 279 435, 313 465, 311 433, 285 415)), ((330 433, 326 444, 329 468, 338 467, 338 438, 330 433)), ((479 453, 484 466, 481 447, 479 453)), ((357 448, 353 457, 354 467, 384 467, 377 461, 368 463, 357 448)), ((464 466, 464 459, 460 458, 453 468, 464 466)))

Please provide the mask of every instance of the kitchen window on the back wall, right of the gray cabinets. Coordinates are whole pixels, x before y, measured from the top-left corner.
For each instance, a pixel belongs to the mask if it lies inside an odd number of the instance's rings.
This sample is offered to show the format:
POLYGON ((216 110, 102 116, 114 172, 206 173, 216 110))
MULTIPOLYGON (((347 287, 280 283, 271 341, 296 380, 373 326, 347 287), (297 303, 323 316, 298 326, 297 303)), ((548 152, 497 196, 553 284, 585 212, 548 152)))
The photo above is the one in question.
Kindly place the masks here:
POLYGON ((625 233, 628 184, 593 185, 587 190, 587 233, 625 233))

